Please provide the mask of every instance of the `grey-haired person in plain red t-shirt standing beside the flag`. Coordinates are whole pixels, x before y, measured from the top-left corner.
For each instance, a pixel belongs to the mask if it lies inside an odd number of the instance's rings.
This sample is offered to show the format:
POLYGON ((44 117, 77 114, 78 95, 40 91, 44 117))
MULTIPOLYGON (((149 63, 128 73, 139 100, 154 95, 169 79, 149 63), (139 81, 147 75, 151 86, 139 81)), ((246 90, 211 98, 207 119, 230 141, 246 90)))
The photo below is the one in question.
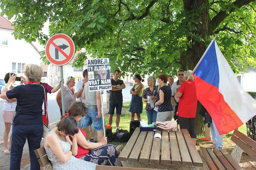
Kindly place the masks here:
MULTIPOLYGON (((184 72, 185 77, 189 77, 192 74, 191 70, 184 72)), ((176 97, 179 99, 178 115, 180 129, 188 129, 190 137, 196 145, 196 133, 195 133, 195 117, 197 107, 196 87, 193 75, 188 81, 184 81, 180 88, 179 93, 176 93, 176 97)))

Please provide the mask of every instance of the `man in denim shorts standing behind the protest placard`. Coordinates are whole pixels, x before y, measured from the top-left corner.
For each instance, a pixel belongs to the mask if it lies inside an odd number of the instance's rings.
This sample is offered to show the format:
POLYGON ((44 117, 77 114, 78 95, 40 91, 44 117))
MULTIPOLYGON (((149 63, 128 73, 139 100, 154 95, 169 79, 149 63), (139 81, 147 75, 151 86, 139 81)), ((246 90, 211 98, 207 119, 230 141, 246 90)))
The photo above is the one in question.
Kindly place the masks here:
POLYGON ((101 93, 100 91, 89 91, 89 81, 84 84, 83 98, 88 113, 83 117, 84 126, 91 126, 92 123, 97 131, 98 142, 103 138, 103 120, 101 117, 101 93))

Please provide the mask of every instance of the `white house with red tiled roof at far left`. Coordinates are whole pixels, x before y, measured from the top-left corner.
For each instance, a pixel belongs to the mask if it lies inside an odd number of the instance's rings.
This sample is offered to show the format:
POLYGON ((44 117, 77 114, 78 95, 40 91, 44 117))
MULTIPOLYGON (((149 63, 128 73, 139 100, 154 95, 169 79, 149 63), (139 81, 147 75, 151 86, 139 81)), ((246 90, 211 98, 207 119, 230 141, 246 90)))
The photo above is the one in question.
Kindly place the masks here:
MULTIPOLYGON (((14 26, 11 24, 6 18, 0 16, 0 79, 4 79, 4 75, 8 72, 16 73, 18 76, 24 75, 25 64, 40 65, 42 62, 40 60, 42 56, 36 46, 24 39, 14 39, 12 35, 14 26)), ((47 76, 47 67, 44 68, 44 76, 47 76)), ((45 80, 45 77, 42 80, 45 80)))

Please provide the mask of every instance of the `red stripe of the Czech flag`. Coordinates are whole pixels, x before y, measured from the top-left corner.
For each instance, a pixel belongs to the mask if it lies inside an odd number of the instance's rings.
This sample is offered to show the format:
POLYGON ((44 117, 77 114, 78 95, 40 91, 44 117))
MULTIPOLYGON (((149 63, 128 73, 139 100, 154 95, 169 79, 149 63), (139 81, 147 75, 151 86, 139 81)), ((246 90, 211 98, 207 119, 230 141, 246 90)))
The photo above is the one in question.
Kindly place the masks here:
POLYGON ((194 75, 196 96, 209 112, 220 135, 233 131, 243 125, 241 119, 225 102, 219 88, 194 75))

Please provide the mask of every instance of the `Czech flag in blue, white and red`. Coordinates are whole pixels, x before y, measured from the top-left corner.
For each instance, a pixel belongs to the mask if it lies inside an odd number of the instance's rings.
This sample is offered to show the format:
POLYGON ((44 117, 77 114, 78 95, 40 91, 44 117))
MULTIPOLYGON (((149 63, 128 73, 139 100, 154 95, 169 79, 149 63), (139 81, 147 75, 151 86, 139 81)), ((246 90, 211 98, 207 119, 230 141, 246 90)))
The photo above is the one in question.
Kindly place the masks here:
POLYGON ((240 86, 228 61, 212 40, 194 72, 196 95, 220 135, 233 131, 256 115, 256 100, 240 86))

